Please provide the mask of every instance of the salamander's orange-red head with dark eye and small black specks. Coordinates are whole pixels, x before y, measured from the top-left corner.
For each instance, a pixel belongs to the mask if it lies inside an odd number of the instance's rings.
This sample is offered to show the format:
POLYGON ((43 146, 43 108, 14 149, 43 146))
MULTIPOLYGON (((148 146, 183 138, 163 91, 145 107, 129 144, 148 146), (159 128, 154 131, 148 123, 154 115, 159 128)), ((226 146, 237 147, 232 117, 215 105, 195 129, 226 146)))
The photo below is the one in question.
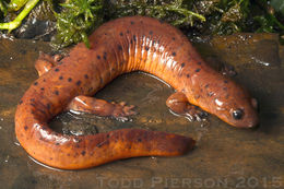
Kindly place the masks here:
MULTIPOLYGON (((192 88, 200 88, 193 104, 238 128, 258 125, 257 101, 235 82, 220 76, 193 81, 192 88)), ((196 90, 197 91, 197 90, 196 90)), ((194 95, 193 95, 194 96, 194 95)), ((188 97, 189 99, 192 97, 188 97)))

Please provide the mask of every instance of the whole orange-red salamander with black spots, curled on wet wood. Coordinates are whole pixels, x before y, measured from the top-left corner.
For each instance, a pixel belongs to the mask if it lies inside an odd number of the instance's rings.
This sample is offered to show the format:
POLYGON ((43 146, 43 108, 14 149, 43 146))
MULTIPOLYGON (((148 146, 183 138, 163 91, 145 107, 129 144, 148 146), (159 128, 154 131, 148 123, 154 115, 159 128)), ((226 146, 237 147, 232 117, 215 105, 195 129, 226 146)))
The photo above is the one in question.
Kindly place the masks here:
POLYGON ((39 78, 21 98, 15 133, 21 145, 51 167, 80 169, 135 156, 174 156, 190 151, 194 140, 143 129, 120 129, 91 135, 55 132, 48 121, 63 110, 125 118, 133 106, 92 97, 118 75, 151 73, 176 93, 168 107, 187 114, 196 105, 239 128, 258 123, 256 101, 234 81, 210 68, 177 28, 156 19, 130 16, 103 24, 90 36, 90 48, 78 44, 69 56, 42 55, 39 78))

